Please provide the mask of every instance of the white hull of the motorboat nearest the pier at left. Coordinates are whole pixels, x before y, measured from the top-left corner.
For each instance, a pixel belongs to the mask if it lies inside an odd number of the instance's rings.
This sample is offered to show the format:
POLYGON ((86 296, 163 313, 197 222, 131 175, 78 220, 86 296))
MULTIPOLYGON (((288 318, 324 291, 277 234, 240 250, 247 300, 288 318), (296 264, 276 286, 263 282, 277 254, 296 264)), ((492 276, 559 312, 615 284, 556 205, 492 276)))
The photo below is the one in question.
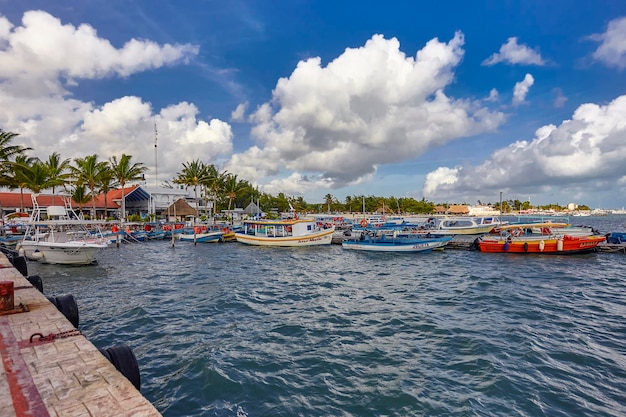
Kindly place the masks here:
POLYGON ((24 241, 17 247, 18 252, 31 261, 61 265, 89 265, 96 262, 96 255, 106 244, 95 243, 53 243, 24 241))

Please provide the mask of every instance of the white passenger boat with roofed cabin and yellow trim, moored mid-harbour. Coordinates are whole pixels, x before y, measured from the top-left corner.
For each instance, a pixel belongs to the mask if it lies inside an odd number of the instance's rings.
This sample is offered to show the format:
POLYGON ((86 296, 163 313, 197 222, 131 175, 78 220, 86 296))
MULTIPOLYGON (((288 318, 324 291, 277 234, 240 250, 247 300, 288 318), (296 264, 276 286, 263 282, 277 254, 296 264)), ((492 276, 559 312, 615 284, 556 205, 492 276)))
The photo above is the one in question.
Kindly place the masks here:
POLYGON ((245 220, 235 238, 257 246, 317 246, 330 245, 334 231, 315 219, 245 220))

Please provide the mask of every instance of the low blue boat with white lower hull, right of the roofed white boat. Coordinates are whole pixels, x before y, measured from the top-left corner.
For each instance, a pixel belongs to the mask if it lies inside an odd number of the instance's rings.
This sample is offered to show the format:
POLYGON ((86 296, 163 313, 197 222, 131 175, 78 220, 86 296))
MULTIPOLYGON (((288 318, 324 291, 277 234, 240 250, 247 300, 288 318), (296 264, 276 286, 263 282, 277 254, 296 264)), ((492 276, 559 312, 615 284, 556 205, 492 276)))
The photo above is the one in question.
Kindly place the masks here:
POLYGON ((422 233, 385 233, 365 231, 356 239, 344 239, 344 249, 377 252, 430 252, 443 247, 452 236, 430 236, 422 233))

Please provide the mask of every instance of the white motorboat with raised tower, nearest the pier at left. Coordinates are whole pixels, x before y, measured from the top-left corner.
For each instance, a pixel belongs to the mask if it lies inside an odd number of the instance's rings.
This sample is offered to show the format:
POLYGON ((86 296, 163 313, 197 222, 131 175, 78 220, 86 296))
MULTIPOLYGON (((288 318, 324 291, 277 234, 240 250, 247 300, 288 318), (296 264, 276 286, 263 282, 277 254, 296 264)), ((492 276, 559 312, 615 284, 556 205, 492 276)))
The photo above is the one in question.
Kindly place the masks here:
POLYGON ((23 240, 16 249, 32 261, 49 264, 89 265, 109 245, 94 222, 80 219, 65 206, 39 207, 36 195, 33 214, 27 222, 23 240))

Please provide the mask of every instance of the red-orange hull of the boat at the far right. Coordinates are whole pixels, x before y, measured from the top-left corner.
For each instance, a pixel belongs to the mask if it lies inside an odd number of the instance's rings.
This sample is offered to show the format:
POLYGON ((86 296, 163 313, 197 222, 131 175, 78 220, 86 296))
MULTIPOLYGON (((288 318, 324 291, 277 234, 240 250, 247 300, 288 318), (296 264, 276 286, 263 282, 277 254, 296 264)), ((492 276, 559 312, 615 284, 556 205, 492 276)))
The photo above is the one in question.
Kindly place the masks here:
POLYGON ((597 251, 604 236, 570 236, 546 239, 480 239, 478 249, 488 253, 582 254, 597 251))

